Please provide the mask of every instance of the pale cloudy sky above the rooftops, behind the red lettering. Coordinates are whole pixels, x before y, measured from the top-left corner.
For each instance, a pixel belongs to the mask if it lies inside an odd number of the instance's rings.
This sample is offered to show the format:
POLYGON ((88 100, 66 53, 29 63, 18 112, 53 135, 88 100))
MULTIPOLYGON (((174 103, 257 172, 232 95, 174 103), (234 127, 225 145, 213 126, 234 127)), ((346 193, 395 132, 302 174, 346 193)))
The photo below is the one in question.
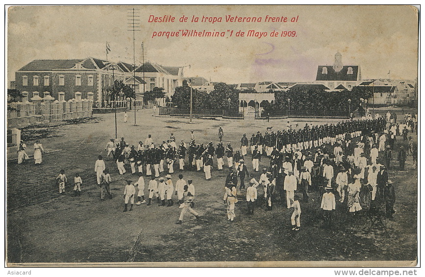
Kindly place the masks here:
POLYGON ((141 43, 147 59, 164 66, 191 65, 185 76, 212 81, 315 80, 318 65, 331 65, 342 54, 345 65, 360 65, 362 78, 414 79, 418 72, 418 18, 411 6, 15 6, 8 11, 7 74, 34 59, 106 58, 132 63, 132 32, 127 8, 139 9, 136 60, 141 43), (175 23, 149 23, 149 17, 173 16, 175 23), (178 22, 187 16, 187 23, 178 22), (230 23, 225 16, 262 17, 257 23, 230 23), (191 23, 192 16, 199 17, 191 23), (200 23, 202 16, 222 22, 200 23), (265 22, 298 16, 298 22, 265 22), (156 31, 234 30, 232 37, 154 37, 156 31), (266 37, 236 37, 236 32, 267 32, 266 37), (296 31, 296 37, 270 37, 272 31, 296 31), (388 72, 390 74, 388 75, 388 72))

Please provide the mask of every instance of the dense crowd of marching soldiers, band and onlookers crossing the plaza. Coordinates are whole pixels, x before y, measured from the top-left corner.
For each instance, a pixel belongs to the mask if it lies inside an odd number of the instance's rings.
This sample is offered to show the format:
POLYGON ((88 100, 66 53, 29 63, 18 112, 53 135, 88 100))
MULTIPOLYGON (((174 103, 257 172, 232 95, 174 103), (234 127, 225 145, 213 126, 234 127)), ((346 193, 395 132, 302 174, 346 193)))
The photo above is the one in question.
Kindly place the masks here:
MULTIPOLYGON (((347 209, 352 214, 361 209, 382 208, 384 214, 388 217, 392 216, 394 188, 385 171, 386 166, 379 163, 380 160, 377 159, 378 152, 384 150, 383 156, 389 167, 391 151, 394 147, 391 140, 395 140, 395 134, 392 135, 391 126, 386 129, 386 124, 384 118, 378 118, 322 126, 306 124, 298 130, 290 126, 287 130, 279 130, 276 133, 266 131, 264 136, 258 131, 257 134, 252 134, 250 140, 244 134, 240 151, 235 152, 230 143, 224 146, 220 142, 216 148, 212 142, 206 146, 202 143, 197 145, 193 131, 191 131, 191 141, 188 145, 181 140, 180 145, 177 146, 172 133, 167 141, 158 145, 153 143, 151 135, 145 143, 140 141, 137 147, 129 146, 124 138, 117 144, 111 139, 105 151, 108 151, 108 159, 112 158, 116 161, 121 175, 126 171, 139 175, 137 182, 125 181, 124 211, 127 211, 128 203, 132 210, 135 187, 138 187, 136 204, 146 203, 143 176, 149 176, 151 180, 148 187, 148 205, 153 199, 159 205, 172 206, 172 195, 175 192, 178 203, 183 208, 181 214, 183 215, 189 209, 198 219, 199 215, 192 209, 195 195, 192 180, 186 183, 180 174, 174 189, 171 180, 174 163, 178 161, 180 171, 203 171, 205 179, 211 180, 213 157, 216 156, 218 170, 223 170, 225 164, 225 168, 229 169, 225 180, 224 196, 228 220, 233 221, 235 217, 234 204, 238 201, 238 182, 240 181, 239 193, 243 193, 245 178, 248 177, 250 186, 245 192, 248 212, 253 214, 255 205, 265 205, 267 210, 271 210, 280 198, 282 205, 294 208, 291 222, 293 229, 299 230, 300 203, 295 192, 302 192, 303 201, 308 201, 308 191, 311 188, 324 191, 321 208, 324 210, 326 226, 330 226, 332 211, 335 210, 335 191, 340 202, 344 202, 347 195, 347 209), (389 145, 382 149, 382 143, 384 145, 389 143, 389 145), (378 145, 379 149, 376 147, 378 145), (248 173, 245 165, 247 149, 251 151, 254 172, 259 171, 259 161, 262 157, 270 158, 270 166, 263 169, 259 181, 248 173), (185 164, 186 156, 189 160, 188 165, 185 164), (158 184, 156 178, 161 173, 166 173, 167 180, 160 177, 158 184)), ((412 151, 410 148, 409 150, 412 151)), ((400 155, 401 160, 405 161, 406 152, 403 146, 400 147, 399 160, 400 155)), ((400 167, 401 163, 404 167, 404 161, 400 161, 400 167)), ((106 195, 111 196, 109 192, 111 178, 101 156, 96 162, 95 172, 103 201, 106 195)), ((182 215, 177 223, 181 223, 182 215)))

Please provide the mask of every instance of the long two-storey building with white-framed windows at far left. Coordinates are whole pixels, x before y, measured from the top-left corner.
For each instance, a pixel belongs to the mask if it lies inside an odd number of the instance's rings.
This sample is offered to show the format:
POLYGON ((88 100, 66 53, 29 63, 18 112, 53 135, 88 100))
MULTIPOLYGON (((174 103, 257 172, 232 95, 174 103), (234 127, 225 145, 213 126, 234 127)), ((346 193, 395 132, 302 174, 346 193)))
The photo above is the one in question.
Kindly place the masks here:
POLYGON ((106 88, 113 85, 112 66, 115 79, 124 81, 124 68, 102 59, 33 60, 15 73, 16 88, 28 99, 50 94, 68 101, 78 94, 82 99, 104 101, 106 88))

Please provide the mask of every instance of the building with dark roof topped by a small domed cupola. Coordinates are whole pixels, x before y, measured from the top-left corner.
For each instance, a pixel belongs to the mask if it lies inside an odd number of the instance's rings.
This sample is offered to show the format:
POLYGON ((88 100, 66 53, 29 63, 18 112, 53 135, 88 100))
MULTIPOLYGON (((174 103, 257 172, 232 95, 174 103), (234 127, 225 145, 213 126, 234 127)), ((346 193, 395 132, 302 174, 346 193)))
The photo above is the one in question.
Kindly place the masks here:
POLYGON ((359 65, 343 65, 342 55, 337 52, 333 65, 320 65, 317 68, 316 84, 323 84, 329 89, 342 85, 348 90, 361 83, 359 65))

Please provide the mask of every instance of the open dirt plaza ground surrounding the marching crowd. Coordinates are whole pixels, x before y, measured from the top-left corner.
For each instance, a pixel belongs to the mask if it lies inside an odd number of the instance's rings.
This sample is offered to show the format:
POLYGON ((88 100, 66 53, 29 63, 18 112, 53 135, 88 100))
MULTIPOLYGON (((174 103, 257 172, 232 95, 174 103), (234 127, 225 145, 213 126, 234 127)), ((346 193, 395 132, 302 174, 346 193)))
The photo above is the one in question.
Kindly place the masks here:
MULTIPOLYGON (((386 111, 380 113, 384 114, 386 111)), ((401 120, 401 112, 397 111, 401 120)), ((153 116, 151 109, 129 112, 124 123, 118 114, 118 137, 130 145, 145 141, 148 134, 154 143, 162 143, 171 133, 176 142, 190 141, 190 130, 196 142, 209 141, 216 147, 218 128, 224 130, 224 143, 230 142, 236 151, 243 133, 250 138, 266 127, 283 129, 286 120, 224 120, 193 119, 153 116)), ((338 120, 298 120, 314 125, 338 120)), ((189 213, 183 224, 176 225, 180 209, 174 206, 134 205, 133 211, 123 212, 123 180, 137 180, 136 175, 120 176, 113 161, 105 161, 113 179, 113 198, 100 201, 94 165, 99 154, 106 156, 105 145, 115 136, 114 114, 94 115, 75 124, 50 124, 47 128, 28 128, 27 153, 39 137, 46 153, 41 165, 30 159, 18 165, 15 149, 8 149, 7 162, 7 259, 13 263, 60 262, 194 262, 194 261, 374 261, 410 260, 417 257, 417 168, 408 156, 404 171, 399 171, 396 159, 392 161, 389 178, 394 181, 396 203, 394 219, 379 221, 362 214, 349 218, 346 208, 337 202, 336 220, 332 229, 323 227, 320 213, 321 195, 310 193, 308 203, 301 202, 301 228, 292 231, 292 209, 277 203, 272 211, 255 207, 254 215, 247 214, 246 190, 238 190, 236 218, 226 219, 223 203, 227 170, 217 171, 214 158, 212 179, 205 181, 203 172, 178 170, 175 163, 173 182, 182 173, 184 179, 193 179, 196 188, 195 210, 200 221, 189 213), (61 169, 68 177, 66 194, 59 196, 55 178, 61 169), (73 196, 73 177, 82 177, 82 195, 73 196)), ((415 133, 409 133, 415 141, 415 133)), ((397 137, 398 143, 402 137, 397 137)), ((397 157, 398 146, 393 157, 397 157)), ((382 155, 382 153, 380 153, 382 155)), ((248 171, 257 180, 261 172, 253 172, 250 151, 245 158, 248 171)), ((187 156, 185 163, 188 164, 187 156)), ((260 168, 269 166, 269 158, 262 157, 260 168)), ((161 176, 165 176, 162 174, 161 176)), ((247 182, 246 178, 246 182, 247 182)), ((149 177, 145 177, 145 197, 149 177)), ((239 188, 239 186, 238 186, 239 188)), ((297 192, 301 195, 300 192, 297 192)), ((412 263, 414 265, 415 262, 412 263)), ((257 264, 259 265, 259 264, 257 264)))

